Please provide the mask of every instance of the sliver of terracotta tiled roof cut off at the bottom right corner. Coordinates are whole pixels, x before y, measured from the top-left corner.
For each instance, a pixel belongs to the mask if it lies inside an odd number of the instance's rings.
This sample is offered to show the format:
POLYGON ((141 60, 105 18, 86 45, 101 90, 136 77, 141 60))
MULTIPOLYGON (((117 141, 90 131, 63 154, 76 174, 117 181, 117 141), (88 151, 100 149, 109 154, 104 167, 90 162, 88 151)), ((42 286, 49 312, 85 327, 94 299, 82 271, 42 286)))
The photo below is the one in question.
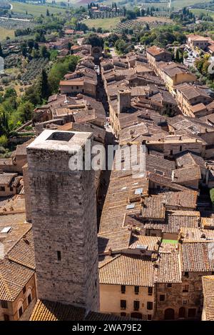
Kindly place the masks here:
POLYGON ((203 299, 207 321, 214 321, 214 276, 203 276, 203 299))

